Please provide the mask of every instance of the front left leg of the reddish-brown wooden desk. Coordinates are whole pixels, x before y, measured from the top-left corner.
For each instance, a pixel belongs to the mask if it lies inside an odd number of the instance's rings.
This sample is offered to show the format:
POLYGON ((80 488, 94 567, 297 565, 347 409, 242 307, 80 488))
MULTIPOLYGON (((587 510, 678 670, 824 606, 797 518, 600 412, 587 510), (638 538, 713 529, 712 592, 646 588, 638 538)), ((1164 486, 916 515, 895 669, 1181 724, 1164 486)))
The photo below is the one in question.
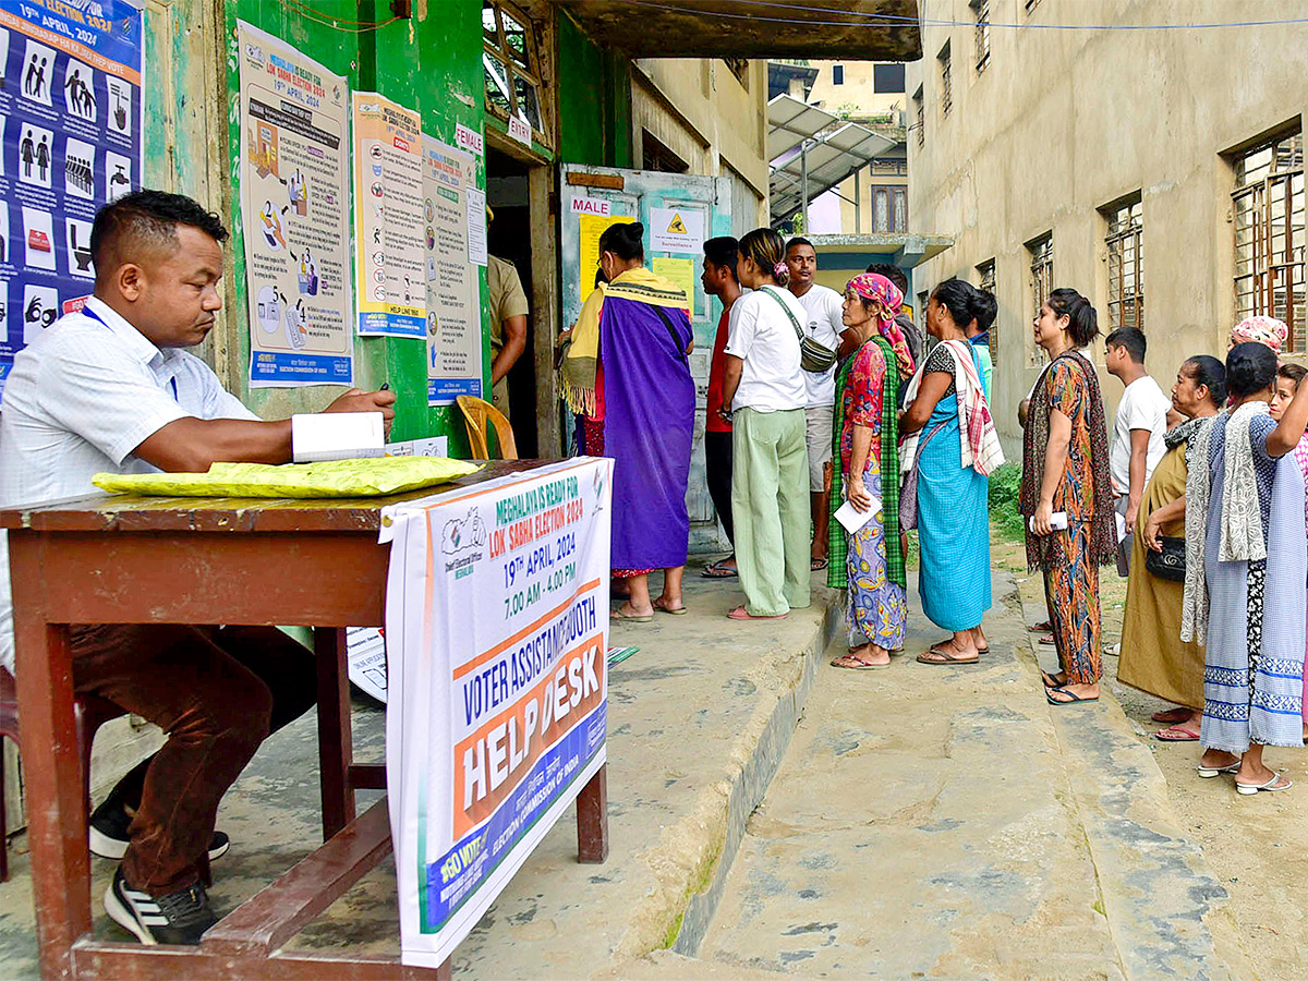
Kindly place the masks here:
MULTIPOLYGON (((21 555, 18 548, 13 553, 21 555)), ((35 570, 17 561, 13 570, 18 594, 20 579, 35 570)), ((33 578, 39 581, 39 574, 33 578)), ((18 603, 14 646, 31 891, 41 976, 50 981, 71 977, 69 948, 90 930, 90 853, 68 628, 47 625, 39 607, 18 603)))

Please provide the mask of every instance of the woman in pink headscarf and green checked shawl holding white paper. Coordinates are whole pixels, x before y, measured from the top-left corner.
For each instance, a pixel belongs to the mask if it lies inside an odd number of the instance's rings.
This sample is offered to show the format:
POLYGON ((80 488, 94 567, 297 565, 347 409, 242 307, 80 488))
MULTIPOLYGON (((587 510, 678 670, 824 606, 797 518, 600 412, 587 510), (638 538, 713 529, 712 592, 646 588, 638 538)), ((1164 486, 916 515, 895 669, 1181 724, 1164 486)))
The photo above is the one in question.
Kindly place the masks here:
POLYGON ((849 594, 849 653, 832 661, 835 667, 887 667, 889 653, 904 646, 908 579, 899 538, 897 415, 900 381, 912 375, 913 358, 895 323, 903 301, 895 284, 876 273, 855 276, 845 286, 842 320, 859 347, 837 379, 832 515, 842 496, 855 511, 872 514, 848 534, 831 519, 832 552, 845 555, 841 578, 833 583, 828 572, 828 585, 849 594))

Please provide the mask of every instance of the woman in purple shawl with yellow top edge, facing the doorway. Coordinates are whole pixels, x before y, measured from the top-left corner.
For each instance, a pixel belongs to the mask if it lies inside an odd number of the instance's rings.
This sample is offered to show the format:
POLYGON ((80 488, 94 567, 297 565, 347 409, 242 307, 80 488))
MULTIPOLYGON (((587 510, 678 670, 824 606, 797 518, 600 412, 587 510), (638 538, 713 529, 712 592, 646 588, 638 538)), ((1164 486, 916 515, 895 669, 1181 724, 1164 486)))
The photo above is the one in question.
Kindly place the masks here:
POLYGON ((579 419, 579 449, 611 456, 613 577, 630 598, 612 616, 649 623, 654 611, 684 613, 681 573, 691 535, 695 347, 689 301, 645 268, 645 228, 611 225, 599 238, 604 283, 582 307, 564 360, 564 395, 579 419), (649 573, 663 569, 663 594, 650 602, 649 573))

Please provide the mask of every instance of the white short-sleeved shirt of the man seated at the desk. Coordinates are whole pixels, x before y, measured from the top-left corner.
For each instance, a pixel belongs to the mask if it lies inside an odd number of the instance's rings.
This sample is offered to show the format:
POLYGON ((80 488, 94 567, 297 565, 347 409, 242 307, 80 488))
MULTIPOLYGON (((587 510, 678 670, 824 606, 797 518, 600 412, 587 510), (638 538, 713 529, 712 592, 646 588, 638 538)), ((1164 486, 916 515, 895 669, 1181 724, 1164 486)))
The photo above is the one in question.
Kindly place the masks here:
MULTIPOLYGON (((0 405, 0 506, 95 493, 99 472, 156 470, 132 451, 178 419, 258 419, 212 369, 160 349, 94 297, 13 360, 0 405)), ((0 532, 0 663, 13 670, 8 540, 0 532)))

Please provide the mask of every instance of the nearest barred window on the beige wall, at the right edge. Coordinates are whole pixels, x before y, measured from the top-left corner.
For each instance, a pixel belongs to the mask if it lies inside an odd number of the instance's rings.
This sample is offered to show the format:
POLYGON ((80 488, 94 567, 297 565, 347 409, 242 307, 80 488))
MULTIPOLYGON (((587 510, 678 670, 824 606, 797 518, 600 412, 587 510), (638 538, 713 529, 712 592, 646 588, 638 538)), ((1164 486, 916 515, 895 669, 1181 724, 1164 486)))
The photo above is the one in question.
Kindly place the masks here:
POLYGON ((1236 319, 1254 314, 1277 317, 1290 327, 1286 349, 1303 351, 1303 131, 1243 150, 1232 164, 1236 319))

